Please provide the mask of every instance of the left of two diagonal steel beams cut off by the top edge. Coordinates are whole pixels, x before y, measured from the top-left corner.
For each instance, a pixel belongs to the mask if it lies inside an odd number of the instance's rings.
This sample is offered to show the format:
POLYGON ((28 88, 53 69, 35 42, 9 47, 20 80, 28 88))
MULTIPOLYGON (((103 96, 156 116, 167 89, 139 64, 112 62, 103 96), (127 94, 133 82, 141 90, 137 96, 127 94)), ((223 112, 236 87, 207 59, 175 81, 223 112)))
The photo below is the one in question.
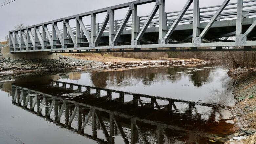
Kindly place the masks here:
POLYGON ((176 20, 174 21, 174 23, 172 24, 171 28, 169 29, 169 31, 166 33, 164 40, 168 39, 171 34, 173 33, 173 31, 175 30, 175 28, 177 27, 177 25, 179 24, 181 18, 183 17, 183 15, 185 14, 185 12, 187 11, 187 9, 189 8, 189 6, 191 5, 191 3, 193 2, 193 0, 188 0, 187 3, 185 4, 185 6, 183 7, 183 9, 181 10, 180 14, 178 15, 178 17, 176 18, 176 20))

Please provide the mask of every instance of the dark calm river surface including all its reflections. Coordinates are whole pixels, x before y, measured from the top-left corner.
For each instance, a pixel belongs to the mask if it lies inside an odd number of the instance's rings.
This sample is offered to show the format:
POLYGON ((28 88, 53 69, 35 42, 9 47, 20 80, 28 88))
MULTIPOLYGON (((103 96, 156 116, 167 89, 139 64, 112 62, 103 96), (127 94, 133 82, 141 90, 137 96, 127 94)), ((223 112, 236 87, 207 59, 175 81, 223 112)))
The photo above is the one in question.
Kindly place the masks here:
POLYGON ((0 83, 0 144, 211 143, 232 133, 226 72, 205 64, 4 77, 15 81, 0 83))

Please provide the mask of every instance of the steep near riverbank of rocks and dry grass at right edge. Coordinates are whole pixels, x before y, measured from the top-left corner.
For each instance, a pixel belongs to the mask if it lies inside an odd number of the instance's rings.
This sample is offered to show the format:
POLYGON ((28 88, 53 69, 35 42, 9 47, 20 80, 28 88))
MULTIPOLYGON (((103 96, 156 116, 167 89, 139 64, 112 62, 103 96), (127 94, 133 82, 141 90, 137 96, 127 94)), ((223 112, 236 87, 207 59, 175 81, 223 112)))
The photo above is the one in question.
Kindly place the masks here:
POLYGON ((233 90, 236 105, 234 114, 236 134, 229 136, 227 144, 256 143, 256 69, 234 69, 228 75, 235 79, 233 90), (241 140, 238 140, 241 139, 241 140))

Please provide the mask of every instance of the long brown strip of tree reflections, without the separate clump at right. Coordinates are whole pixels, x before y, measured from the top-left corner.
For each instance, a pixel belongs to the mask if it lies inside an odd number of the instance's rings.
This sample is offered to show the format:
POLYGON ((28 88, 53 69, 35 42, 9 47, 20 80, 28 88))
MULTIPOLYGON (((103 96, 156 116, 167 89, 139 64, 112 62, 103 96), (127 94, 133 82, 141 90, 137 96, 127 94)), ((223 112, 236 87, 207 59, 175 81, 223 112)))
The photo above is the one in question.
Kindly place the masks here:
MULTIPOLYGON (((154 81, 164 81, 166 74, 174 75, 173 68, 139 68, 129 69, 125 71, 110 71, 110 72, 92 72, 91 79, 93 84, 98 87, 105 87, 107 83, 120 84, 131 82, 133 84, 141 81, 145 86, 151 85, 154 81), (107 81, 108 80, 108 81, 107 81)), ((178 76, 179 77, 179 76, 178 76)), ((177 79, 175 77, 168 77, 172 82, 177 79)))

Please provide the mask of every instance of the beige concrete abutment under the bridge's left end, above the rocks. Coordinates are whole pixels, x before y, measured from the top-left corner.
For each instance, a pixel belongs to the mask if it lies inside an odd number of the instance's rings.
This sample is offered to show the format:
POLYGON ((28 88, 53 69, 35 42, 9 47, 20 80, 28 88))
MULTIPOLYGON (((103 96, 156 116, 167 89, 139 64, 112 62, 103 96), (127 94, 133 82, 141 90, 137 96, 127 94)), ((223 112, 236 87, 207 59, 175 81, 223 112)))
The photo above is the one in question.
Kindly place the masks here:
POLYGON ((42 51, 42 52, 16 52, 10 53, 9 45, 1 48, 1 53, 4 58, 11 59, 34 59, 34 58, 43 58, 43 59, 59 59, 58 54, 50 54, 50 51, 42 51))

